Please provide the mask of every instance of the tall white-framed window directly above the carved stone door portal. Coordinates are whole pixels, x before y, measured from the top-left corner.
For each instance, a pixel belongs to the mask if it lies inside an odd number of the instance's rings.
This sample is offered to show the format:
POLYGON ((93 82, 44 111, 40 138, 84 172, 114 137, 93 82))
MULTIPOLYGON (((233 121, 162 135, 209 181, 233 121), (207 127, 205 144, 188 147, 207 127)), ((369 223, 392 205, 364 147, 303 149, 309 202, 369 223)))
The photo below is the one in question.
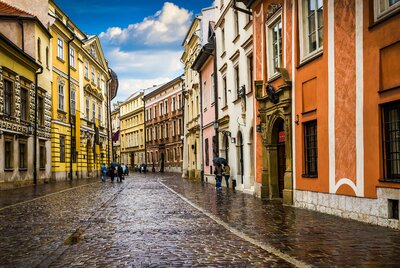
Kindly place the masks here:
POLYGON ((282 18, 281 14, 273 17, 268 24, 268 78, 279 74, 277 67, 282 65, 282 18))

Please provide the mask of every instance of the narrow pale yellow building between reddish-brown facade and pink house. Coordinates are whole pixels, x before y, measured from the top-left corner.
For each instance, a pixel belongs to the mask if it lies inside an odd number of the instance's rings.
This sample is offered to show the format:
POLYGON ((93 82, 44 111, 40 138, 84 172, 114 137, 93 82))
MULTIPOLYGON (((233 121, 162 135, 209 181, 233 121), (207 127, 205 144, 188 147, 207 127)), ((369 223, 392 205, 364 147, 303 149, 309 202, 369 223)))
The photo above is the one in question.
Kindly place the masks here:
POLYGON ((189 179, 201 178, 201 144, 200 144, 200 90, 199 75, 192 70, 194 60, 200 52, 200 19, 195 18, 182 43, 184 52, 181 61, 184 65, 184 147, 183 174, 189 179))

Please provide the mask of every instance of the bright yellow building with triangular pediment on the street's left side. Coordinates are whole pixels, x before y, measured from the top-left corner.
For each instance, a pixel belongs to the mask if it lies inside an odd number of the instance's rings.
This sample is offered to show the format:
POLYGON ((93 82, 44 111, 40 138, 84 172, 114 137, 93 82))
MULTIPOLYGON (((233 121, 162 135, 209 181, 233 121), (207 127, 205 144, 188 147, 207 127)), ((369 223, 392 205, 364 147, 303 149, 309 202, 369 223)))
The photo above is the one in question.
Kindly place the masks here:
POLYGON ((99 176, 109 162, 107 62, 97 36, 84 34, 49 1, 52 39, 52 177, 99 176), (72 176, 71 176, 72 175, 72 176))

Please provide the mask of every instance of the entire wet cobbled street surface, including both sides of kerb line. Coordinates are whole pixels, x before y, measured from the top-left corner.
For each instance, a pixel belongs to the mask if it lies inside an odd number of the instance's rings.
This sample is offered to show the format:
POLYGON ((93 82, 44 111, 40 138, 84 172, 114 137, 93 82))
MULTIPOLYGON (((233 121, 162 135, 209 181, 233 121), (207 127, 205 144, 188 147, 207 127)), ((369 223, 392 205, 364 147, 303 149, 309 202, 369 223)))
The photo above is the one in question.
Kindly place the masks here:
POLYGON ((400 232, 174 174, 0 192, 0 267, 398 266, 400 232), (13 192, 14 191, 14 192, 13 192), (17 196, 22 196, 17 198, 17 196))

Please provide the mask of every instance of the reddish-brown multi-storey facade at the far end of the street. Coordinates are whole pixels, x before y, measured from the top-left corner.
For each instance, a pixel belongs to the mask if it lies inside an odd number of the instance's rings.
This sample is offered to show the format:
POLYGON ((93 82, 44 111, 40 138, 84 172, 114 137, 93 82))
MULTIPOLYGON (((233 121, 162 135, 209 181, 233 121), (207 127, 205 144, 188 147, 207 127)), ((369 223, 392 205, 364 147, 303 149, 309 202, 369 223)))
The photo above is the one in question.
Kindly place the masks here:
POLYGON ((182 172, 183 77, 146 90, 146 153, 148 170, 182 172))

